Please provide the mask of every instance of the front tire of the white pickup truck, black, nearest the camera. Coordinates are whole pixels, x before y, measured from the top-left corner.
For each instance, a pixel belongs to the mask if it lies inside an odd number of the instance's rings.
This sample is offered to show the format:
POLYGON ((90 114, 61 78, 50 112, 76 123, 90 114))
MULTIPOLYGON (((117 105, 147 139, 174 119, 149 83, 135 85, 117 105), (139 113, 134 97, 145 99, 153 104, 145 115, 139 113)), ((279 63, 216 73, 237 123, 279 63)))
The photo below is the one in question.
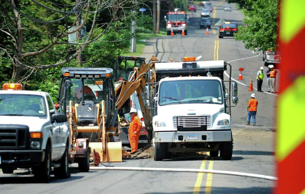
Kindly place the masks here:
POLYGON ((34 168, 34 177, 38 182, 49 182, 51 174, 51 147, 45 148, 45 159, 38 167, 34 168))

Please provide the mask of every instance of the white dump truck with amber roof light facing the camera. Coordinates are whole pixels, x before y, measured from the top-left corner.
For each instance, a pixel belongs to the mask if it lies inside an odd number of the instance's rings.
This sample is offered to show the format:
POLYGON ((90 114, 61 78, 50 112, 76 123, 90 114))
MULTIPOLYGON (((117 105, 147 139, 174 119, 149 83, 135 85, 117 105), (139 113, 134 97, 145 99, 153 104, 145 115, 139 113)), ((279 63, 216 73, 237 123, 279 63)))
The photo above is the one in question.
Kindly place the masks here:
POLYGON ((171 158, 174 152, 196 151, 210 151, 212 157, 220 151, 222 159, 231 159, 231 107, 238 97, 231 70, 224 81, 227 65, 222 60, 197 61, 196 57, 155 63, 156 83, 147 83, 145 88, 146 99, 153 96, 148 104, 153 114, 154 160, 171 158))

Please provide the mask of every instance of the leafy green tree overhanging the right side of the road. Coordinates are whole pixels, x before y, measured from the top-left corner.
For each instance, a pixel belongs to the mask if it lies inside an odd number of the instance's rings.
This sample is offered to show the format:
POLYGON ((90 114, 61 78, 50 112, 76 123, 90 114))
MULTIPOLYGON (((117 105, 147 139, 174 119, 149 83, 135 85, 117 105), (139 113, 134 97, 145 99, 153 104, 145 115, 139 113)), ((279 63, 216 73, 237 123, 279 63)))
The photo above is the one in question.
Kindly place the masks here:
POLYGON ((252 4, 252 11, 244 10, 243 23, 239 26, 239 32, 235 34, 236 40, 241 40, 246 49, 268 50, 277 47, 278 28, 278 1, 277 0, 247 0, 252 4))

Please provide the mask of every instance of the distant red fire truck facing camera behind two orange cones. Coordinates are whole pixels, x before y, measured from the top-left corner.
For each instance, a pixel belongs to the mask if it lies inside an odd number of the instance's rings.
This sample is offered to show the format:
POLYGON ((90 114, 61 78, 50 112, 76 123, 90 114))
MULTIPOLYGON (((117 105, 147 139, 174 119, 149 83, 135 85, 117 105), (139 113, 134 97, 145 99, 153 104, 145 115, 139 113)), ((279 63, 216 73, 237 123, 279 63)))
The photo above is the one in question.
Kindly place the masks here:
POLYGON ((164 16, 164 20, 166 22, 167 35, 170 35, 171 30, 173 30, 174 34, 182 33, 182 29, 184 30, 185 35, 187 35, 188 19, 189 16, 186 14, 186 12, 179 11, 177 8, 174 10, 174 12, 168 12, 164 16))

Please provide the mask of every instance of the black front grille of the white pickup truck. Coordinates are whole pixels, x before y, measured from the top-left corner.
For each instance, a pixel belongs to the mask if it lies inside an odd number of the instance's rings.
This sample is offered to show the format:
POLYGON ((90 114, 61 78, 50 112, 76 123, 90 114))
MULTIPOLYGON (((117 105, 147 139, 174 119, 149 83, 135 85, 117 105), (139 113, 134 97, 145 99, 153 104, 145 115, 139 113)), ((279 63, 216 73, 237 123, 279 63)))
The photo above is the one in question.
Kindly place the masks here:
POLYGON ((0 125, 0 149, 22 150, 29 146, 29 128, 26 125, 0 125))

